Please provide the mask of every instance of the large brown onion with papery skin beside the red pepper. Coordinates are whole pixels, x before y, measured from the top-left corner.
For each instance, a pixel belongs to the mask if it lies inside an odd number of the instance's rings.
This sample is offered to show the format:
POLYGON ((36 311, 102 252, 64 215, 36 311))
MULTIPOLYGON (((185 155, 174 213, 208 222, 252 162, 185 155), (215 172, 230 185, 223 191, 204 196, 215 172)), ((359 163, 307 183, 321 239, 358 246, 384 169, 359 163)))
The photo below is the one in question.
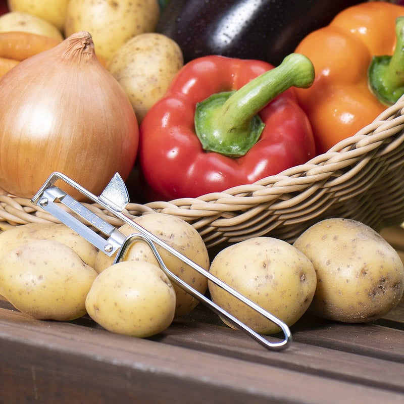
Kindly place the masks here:
POLYGON ((0 79, 0 187, 11 194, 31 198, 59 171, 98 195, 116 172, 128 178, 138 137, 129 99, 88 32, 0 79))

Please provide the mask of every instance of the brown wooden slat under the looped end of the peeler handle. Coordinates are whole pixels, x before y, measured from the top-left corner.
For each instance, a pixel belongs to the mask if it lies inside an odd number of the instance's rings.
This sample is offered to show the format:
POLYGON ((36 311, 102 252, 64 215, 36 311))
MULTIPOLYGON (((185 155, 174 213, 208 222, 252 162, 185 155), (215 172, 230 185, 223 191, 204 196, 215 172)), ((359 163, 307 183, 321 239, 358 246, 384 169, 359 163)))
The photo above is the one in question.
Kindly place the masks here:
POLYGON ((296 341, 282 352, 268 351, 241 332, 197 322, 176 322, 155 340, 195 351, 209 351, 248 362, 404 392, 404 363, 296 341))

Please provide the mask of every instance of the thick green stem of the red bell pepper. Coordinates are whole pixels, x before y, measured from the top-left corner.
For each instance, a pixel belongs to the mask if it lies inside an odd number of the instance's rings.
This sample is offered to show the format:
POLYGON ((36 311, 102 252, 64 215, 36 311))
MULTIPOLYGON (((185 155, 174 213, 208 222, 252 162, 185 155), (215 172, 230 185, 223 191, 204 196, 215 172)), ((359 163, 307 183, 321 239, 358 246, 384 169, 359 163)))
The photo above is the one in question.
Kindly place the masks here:
POLYGON ((198 103, 195 131, 203 148, 229 157, 244 156, 265 126, 258 112, 292 86, 310 87, 314 77, 312 62, 304 55, 291 54, 239 90, 213 94, 198 103))

